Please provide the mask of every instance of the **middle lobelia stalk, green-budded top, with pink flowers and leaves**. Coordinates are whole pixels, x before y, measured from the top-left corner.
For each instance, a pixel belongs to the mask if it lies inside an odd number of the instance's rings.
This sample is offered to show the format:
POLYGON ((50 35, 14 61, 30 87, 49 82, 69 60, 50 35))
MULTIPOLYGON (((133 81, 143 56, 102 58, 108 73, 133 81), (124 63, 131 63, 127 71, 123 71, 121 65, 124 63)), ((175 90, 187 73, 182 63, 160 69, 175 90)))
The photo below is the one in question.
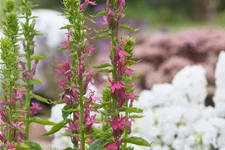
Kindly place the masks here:
POLYGON ((67 136, 71 137, 74 145, 73 149, 86 149, 86 144, 90 143, 91 138, 88 135, 94 124, 95 116, 91 114, 94 111, 93 104, 96 101, 94 91, 89 90, 93 71, 87 68, 85 59, 95 50, 88 46, 87 36, 89 28, 84 24, 86 16, 84 11, 88 5, 96 5, 95 2, 85 0, 64 0, 64 16, 69 24, 62 27, 67 29, 67 40, 61 42, 62 49, 70 51, 67 60, 58 64, 57 75, 63 75, 64 78, 59 81, 59 88, 63 89, 61 102, 65 103, 62 110, 63 121, 56 124, 45 135, 53 134, 57 130, 66 126, 67 136), (57 130, 54 130, 57 127, 57 130), (76 135, 76 136, 75 136, 76 135))

